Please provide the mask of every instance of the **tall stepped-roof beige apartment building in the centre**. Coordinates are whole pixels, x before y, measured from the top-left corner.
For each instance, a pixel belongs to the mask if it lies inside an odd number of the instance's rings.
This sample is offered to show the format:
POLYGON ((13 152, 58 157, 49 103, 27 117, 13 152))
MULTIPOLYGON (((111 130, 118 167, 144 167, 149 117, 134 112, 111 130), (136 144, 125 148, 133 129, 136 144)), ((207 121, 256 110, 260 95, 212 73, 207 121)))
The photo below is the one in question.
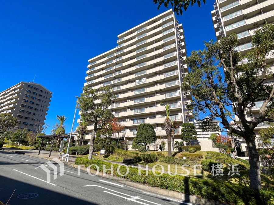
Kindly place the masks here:
MULTIPOLYGON (((109 111, 125 125, 119 138, 132 144, 138 125, 149 123, 158 138, 166 139, 163 102, 170 104, 170 118, 180 125, 175 132, 180 141, 181 124, 193 122, 187 109, 191 97, 180 89, 188 74, 182 24, 170 9, 118 35, 117 43, 114 49, 88 61, 84 86, 113 87, 117 100, 109 111)), ((85 139, 90 139, 93 125, 87 129, 85 139)))

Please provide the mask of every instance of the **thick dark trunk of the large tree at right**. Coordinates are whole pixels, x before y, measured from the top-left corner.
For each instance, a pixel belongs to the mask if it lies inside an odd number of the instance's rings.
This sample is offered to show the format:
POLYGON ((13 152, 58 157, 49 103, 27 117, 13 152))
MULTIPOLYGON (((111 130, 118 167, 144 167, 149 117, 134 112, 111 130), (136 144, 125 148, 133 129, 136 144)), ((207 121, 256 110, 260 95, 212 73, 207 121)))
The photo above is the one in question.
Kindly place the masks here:
POLYGON ((249 157, 249 180, 250 180, 250 188, 253 190, 261 190, 261 167, 260 167, 260 159, 259 154, 256 149, 255 144, 255 133, 251 134, 253 136, 244 137, 249 157))

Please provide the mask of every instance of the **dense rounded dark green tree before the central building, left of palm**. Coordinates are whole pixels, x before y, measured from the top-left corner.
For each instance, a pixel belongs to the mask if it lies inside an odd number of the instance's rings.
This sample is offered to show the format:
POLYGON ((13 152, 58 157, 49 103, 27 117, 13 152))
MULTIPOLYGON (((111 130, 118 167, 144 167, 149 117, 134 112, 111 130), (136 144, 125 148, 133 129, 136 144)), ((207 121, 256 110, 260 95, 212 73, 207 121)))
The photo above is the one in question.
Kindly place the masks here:
POLYGON ((153 125, 142 123, 138 125, 135 142, 137 144, 145 144, 145 147, 156 141, 156 132, 153 125))

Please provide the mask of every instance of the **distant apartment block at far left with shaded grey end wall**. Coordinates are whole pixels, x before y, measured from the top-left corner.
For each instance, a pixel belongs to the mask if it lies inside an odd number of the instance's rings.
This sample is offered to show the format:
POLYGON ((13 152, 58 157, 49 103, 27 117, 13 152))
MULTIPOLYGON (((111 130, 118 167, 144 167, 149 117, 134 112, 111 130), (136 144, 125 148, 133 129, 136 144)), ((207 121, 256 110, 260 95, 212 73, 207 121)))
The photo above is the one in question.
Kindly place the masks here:
POLYGON ((37 83, 20 82, 0 93, 0 113, 17 118, 17 128, 36 132, 35 123, 44 123, 52 93, 37 83))

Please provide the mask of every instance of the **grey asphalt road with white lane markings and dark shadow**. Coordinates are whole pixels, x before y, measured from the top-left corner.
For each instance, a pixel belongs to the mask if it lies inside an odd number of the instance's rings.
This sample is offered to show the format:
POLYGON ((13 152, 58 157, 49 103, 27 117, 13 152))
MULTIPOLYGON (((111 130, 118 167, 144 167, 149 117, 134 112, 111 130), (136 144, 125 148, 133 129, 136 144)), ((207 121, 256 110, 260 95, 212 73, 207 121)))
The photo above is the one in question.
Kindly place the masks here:
MULTIPOLYGON (((12 196, 8 203, 10 205, 191 205, 176 198, 124 186, 100 176, 90 176, 84 172, 78 176, 78 170, 68 166, 64 166, 64 175, 60 176, 60 166, 53 161, 51 162, 57 166, 58 175, 55 175, 56 179, 54 175, 50 175, 51 181, 47 183, 47 173, 39 167, 46 162, 48 161, 45 159, 0 151, 0 201, 6 204, 12 196), (23 199, 20 199, 19 195, 24 193, 34 194, 23 195, 23 199), (26 198, 33 196, 36 197, 26 198)), ((44 166, 50 173, 54 173, 54 169, 48 164, 44 166)))

